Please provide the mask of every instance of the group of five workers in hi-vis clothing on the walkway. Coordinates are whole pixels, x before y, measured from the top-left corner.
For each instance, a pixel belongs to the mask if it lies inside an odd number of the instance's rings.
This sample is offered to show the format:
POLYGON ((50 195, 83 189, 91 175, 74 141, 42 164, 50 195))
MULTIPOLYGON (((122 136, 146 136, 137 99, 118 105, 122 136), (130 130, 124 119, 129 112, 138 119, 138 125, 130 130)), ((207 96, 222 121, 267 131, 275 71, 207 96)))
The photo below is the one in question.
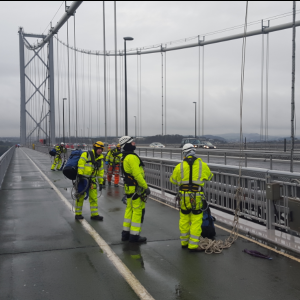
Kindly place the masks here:
MULTIPOLYGON (((64 153, 64 145, 56 146, 57 156, 64 153)), ((124 175, 124 191, 127 204, 123 220, 122 241, 132 243, 143 243, 147 241, 142 237, 142 223, 145 216, 146 198, 150 189, 145 180, 144 163, 134 152, 135 142, 130 136, 123 136, 115 149, 111 149, 105 158, 102 154, 104 144, 98 141, 93 144, 93 150, 83 152, 78 161, 78 191, 84 181, 89 182, 89 190, 78 197, 75 206, 75 219, 80 220, 82 216, 83 201, 89 197, 91 219, 102 221, 103 216, 98 213, 97 185, 102 191, 104 183, 104 163, 108 166, 107 182, 111 185, 114 175, 114 186, 119 185, 120 168, 124 175)), ((180 200, 180 240, 182 248, 188 248, 190 252, 201 252, 205 249, 199 246, 201 236, 201 225, 203 218, 204 182, 211 180, 213 174, 208 165, 201 158, 196 157, 192 144, 185 144, 182 152, 183 161, 178 164, 172 176, 171 183, 179 187, 178 197, 180 200)), ((56 159, 56 158, 55 158, 56 159)), ((61 160, 56 160, 52 168, 60 167, 61 160)))

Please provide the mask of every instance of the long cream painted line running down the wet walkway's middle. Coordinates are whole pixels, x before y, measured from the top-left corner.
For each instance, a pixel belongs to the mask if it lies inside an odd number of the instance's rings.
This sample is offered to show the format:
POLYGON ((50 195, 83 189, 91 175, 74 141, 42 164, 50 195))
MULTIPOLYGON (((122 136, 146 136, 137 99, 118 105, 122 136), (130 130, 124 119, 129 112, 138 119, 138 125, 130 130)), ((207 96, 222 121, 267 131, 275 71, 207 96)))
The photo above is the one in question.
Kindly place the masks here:
MULTIPOLYGON (((24 150, 22 149, 24 152, 24 150)), ((36 163, 24 152, 24 154, 29 158, 29 160, 35 165, 35 167, 41 172, 45 180, 50 184, 53 190, 58 194, 60 199, 66 204, 66 206, 72 210, 71 203, 65 198, 65 196, 59 191, 59 189, 52 183, 52 181, 44 174, 44 172, 36 165, 36 163)), ((79 220, 84 229, 93 237, 98 246, 106 254, 108 259, 114 264, 119 273, 131 286, 134 292, 140 299, 143 300, 154 300, 154 298, 148 293, 144 286, 137 280, 137 278, 132 274, 132 272, 127 268, 127 266, 120 260, 116 253, 109 247, 105 240, 99 235, 99 233, 86 221, 79 220)))

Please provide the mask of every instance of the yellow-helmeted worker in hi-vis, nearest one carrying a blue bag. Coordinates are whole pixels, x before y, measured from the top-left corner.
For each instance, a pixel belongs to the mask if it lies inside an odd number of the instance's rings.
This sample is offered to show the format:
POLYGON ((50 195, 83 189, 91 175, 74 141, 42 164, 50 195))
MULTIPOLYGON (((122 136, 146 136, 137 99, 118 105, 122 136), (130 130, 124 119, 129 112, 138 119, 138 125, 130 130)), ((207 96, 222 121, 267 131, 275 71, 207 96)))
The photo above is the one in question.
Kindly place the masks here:
POLYGON ((75 219, 84 219, 82 216, 82 205, 85 197, 88 195, 91 209, 91 219, 102 221, 103 217, 98 213, 98 198, 97 198, 97 181, 99 183, 99 191, 102 191, 103 175, 104 175, 104 157, 102 151, 104 144, 101 141, 93 144, 93 150, 85 151, 81 154, 78 160, 78 192, 83 190, 83 186, 88 184, 88 190, 79 196, 75 206, 75 219), (91 157, 91 154, 93 157, 91 157))

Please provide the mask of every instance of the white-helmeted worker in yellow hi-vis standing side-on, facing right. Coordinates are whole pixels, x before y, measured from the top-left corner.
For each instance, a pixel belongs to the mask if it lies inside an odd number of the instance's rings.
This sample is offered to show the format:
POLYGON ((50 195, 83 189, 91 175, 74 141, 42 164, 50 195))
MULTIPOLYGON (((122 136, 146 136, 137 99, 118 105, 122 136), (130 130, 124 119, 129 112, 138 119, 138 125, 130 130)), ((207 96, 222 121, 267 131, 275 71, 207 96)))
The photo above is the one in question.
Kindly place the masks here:
POLYGON ((146 237, 140 236, 145 216, 145 201, 150 189, 145 181, 144 164, 134 153, 135 142, 130 136, 119 139, 122 151, 122 171, 127 206, 124 215, 122 241, 143 243, 146 237))

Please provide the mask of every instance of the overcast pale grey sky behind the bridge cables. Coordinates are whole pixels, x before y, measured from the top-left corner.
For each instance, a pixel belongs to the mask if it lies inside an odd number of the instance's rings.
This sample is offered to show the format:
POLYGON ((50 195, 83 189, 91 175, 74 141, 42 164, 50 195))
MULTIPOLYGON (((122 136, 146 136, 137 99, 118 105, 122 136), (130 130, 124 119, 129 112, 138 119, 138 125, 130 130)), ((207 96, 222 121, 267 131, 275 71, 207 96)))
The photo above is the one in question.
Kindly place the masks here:
MULTIPOLYGON (((76 12, 76 45, 87 50, 103 50, 103 2, 83 2, 76 12)), ((20 132, 20 75, 19 75, 19 39, 18 27, 27 33, 47 33, 49 22, 53 24, 64 13, 62 2, 0 2, 0 136, 19 136, 20 132), (59 9, 59 7, 61 8, 59 9)), ((71 2, 68 2, 71 4, 71 2)), ((117 44, 123 49, 123 37, 131 36, 128 48, 142 48, 149 45, 165 44, 179 39, 203 36, 205 39, 232 35, 243 31, 242 28, 217 35, 207 33, 241 25, 245 19, 246 2, 117 2, 117 44)), ((292 1, 249 2, 248 22, 269 19, 276 15, 292 12, 292 1)), ((298 20, 298 15, 296 20, 298 20)), ((271 26, 292 21, 292 16, 271 20, 271 26)), ((265 21, 265 25, 267 21, 265 21)), ((106 43, 108 50, 114 50, 113 2, 106 2, 106 43)), ((248 31, 259 29, 260 24, 248 27, 248 31)), ((73 18, 69 21, 70 45, 74 39, 73 18)), ((58 38, 67 41, 66 26, 58 38)), ((31 43, 35 39, 29 39, 31 43)), ((187 41, 193 43, 196 40, 187 41)), ((269 35, 269 135, 290 135, 291 120, 291 57, 292 30, 282 30, 269 35)), ((299 28, 297 28, 299 41, 299 28)), ((185 44, 184 42, 182 44, 185 44)), ((266 38, 265 38, 266 45, 266 38)), ((299 44, 298 44, 299 45, 299 44)), ((298 46, 297 45, 297 46, 298 46)), ((55 40, 55 55, 59 55, 59 65, 55 61, 56 88, 56 133, 62 135, 62 113, 58 115, 58 102, 67 96, 67 50, 55 40), (58 50, 57 50, 58 49, 58 50), (59 74, 59 75, 58 75, 59 74), (57 77, 59 76, 59 77, 57 77), (59 94, 58 94, 59 84, 59 94)), ((72 51, 71 51, 72 52, 72 51)), ((26 52, 27 53, 27 52, 26 52)), ((41 52, 43 53, 43 52, 41 52)), ((262 37, 247 39, 243 131, 260 133, 261 106, 261 56, 262 37)), ((300 116, 298 99, 299 89, 299 46, 296 48, 296 117, 300 116)), ((28 58, 30 53, 26 54, 28 58)), ((225 134, 239 132, 239 102, 241 77, 242 40, 223 42, 204 47, 204 134, 225 134)), ((104 134, 104 83, 103 57, 78 54, 78 135, 104 134), (90 57, 90 58, 89 58, 90 57), (89 61, 90 59, 90 61, 89 61), (89 64, 91 71, 89 71, 89 64), (84 65, 84 69, 83 69, 84 65), (98 68, 98 69, 97 69, 98 68), (98 73, 99 70, 99 73, 98 73), (90 72, 90 73, 89 73, 90 72), (89 75, 90 74, 90 75, 89 75), (90 76, 90 82, 89 82, 90 76), (89 86, 91 88, 89 88, 89 86), (90 104, 91 103, 91 104, 90 104), (84 108, 84 112, 83 112, 84 108), (91 113, 89 111, 91 110, 91 113), (84 120, 84 121, 83 121, 84 120), (91 129, 93 128, 92 132, 91 129)), ((57 58, 57 57, 56 57, 57 58)), ((141 134, 160 134, 162 124, 162 72, 161 53, 142 55, 141 59, 141 134)), ((201 48, 202 59, 202 48, 201 48)), ((164 58, 165 61, 165 58, 164 58)), ((118 58, 118 73, 121 59, 118 58)), ((198 47, 170 51, 166 53, 166 101, 167 134, 194 134, 194 104, 198 105, 198 47)), ((128 105, 129 134, 134 135, 134 116, 138 116, 138 77, 137 57, 128 56, 128 105)), ((108 134, 115 130, 115 93, 114 93, 114 58, 110 57, 107 79, 108 134)), ((202 64, 202 61, 201 61, 202 64)), ((70 53, 71 73, 71 134, 75 134, 75 97, 74 97, 74 54, 70 53)), ((42 67, 40 67, 42 72, 42 67)), ((31 76, 36 83, 41 82, 41 75, 31 76)), ((202 72, 202 71, 201 71, 202 72)), ((118 74, 119 102, 124 101, 124 89, 120 87, 118 74)), ((201 73, 202 76, 202 73, 201 73)), ((202 81, 202 79, 201 79, 202 81)), ((163 84, 165 85, 165 79, 163 84)), ((266 79, 264 79, 264 91, 266 79)), ((28 87, 28 95, 30 88, 28 87)), ((164 86, 165 87, 165 86, 164 86)), ((201 86, 202 95, 202 86, 201 86)), ((264 92, 264 99, 266 94, 264 92)), ((28 110, 39 115, 41 98, 36 97, 28 110), (39 103, 37 103, 39 101, 39 103)), ((201 99, 202 103, 202 99, 201 99)), ((120 103, 119 103, 120 104, 120 103)), ((61 105, 61 104, 60 104, 61 105)), ((202 104, 201 104, 202 108, 202 104)), ((68 116, 68 106, 66 114, 68 116)), ((265 107, 264 107, 265 109, 265 107)), ((124 104, 118 112, 121 125, 124 124, 124 104)), ((202 116, 202 114, 201 114, 202 116)), ((197 116, 198 118, 198 116, 197 116)), ((199 120, 199 119, 198 119, 199 120)), ((66 123, 68 123, 66 117, 66 123)), ((120 123, 119 122, 119 123, 120 123)), ((202 121, 201 121, 202 122, 202 121)), ((297 122, 299 123, 299 122, 297 122)), ((202 124, 202 123, 201 123, 202 124)), ((27 132, 32 122, 28 123, 27 132)), ((297 128, 299 126, 297 125, 297 128)), ((66 131, 69 131, 68 124, 66 131)), ((124 132, 120 126, 119 134, 124 132), (121 130, 121 132, 120 132, 121 130)), ((202 132, 202 126, 201 126, 202 132)), ((197 126, 199 134, 199 127, 197 126)), ((298 135, 298 132, 296 131, 298 135)))

